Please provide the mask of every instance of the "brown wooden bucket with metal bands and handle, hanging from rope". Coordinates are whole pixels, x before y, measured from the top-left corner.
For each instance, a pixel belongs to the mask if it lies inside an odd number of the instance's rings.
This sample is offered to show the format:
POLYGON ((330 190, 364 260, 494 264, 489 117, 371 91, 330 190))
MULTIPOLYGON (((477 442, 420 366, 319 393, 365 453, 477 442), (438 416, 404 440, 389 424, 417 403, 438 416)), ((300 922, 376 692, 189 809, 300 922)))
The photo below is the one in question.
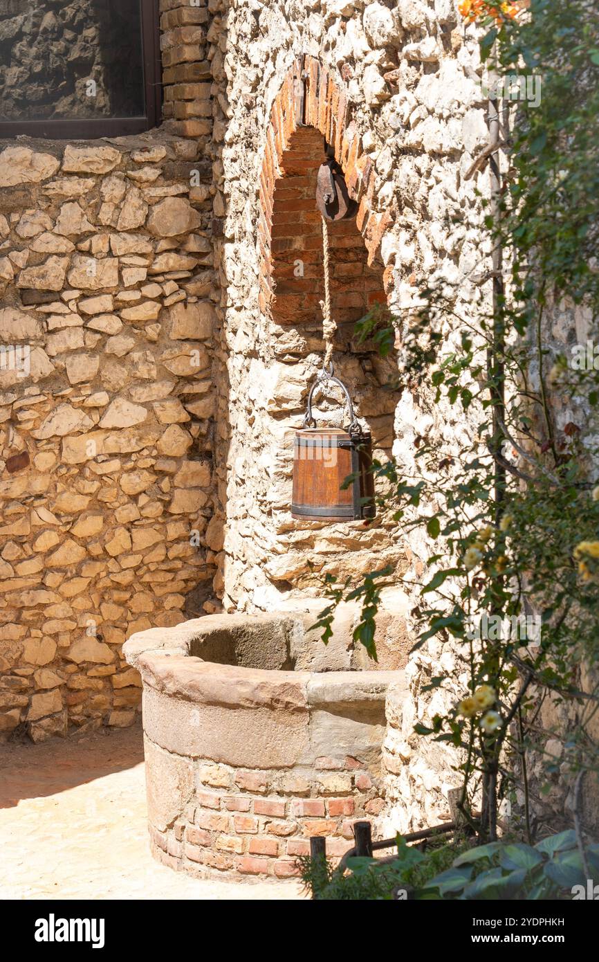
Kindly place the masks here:
POLYGON ((349 406, 349 427, 347 430, 316 427, 312 418, 312 394, 322 380, 312 385, 304 425, 295 432, 291 516, 312 521, 374 518, 372 438, 362 431, 347 388, 332 375, 324 380, 335 382, 344 392, 349 406), (342 489, 349 475, 354 478, 342 489))

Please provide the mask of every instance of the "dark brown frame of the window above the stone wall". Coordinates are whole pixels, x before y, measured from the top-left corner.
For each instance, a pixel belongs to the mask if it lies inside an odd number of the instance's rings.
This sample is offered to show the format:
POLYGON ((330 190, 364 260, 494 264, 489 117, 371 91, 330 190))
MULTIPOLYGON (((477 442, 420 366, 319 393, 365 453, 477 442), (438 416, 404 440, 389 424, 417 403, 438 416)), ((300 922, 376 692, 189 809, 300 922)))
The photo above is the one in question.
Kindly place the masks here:
POLYGON ((160 0, 139 0, 145 114, 136 117, 85 119, 2 120, 0 138, 26 135, 49 140, 93 140, 142 134, 162 121, 162 60, 160 43, 160 0))

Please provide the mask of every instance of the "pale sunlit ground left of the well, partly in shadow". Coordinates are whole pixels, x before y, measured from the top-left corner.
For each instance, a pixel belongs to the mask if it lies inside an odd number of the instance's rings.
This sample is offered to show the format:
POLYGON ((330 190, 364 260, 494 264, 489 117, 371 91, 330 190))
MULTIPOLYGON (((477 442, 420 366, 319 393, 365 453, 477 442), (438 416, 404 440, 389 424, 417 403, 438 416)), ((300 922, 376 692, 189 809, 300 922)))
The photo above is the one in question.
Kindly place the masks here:
POLYGON ((0 746, 0 899, 298 899, 295 882, 199 881, 147 844, 140 728, 0 746))

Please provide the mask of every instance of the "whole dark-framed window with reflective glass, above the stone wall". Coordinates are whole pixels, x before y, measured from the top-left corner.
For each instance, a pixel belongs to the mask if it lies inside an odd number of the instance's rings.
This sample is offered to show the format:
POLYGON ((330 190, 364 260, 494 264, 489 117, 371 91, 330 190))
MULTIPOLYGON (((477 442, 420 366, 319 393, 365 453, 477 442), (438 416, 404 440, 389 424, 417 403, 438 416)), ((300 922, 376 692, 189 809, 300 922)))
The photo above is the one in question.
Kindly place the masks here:
POLYGON ((159 0, 0 0, 0 137, 160 123, 159 0))

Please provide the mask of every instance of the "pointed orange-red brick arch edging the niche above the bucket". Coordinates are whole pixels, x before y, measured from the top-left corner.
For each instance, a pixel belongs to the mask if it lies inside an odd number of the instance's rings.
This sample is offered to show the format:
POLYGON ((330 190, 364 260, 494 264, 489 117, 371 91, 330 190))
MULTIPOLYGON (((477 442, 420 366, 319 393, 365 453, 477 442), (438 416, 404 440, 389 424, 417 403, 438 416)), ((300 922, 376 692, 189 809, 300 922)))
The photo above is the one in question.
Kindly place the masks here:
MULTIPOLYGON (((285 155, 302 132, 317 131, 334 148, 351 197, 357 201, 358 214, 352 221, 359 231, 367 253, 367 266, 377 266, 388 292, 391 267, 382 271, 379 264, 381 240, 391 223, 391 215, 372 210, 374 176, 372 161, 362 152, 362 136, 354 120, 354 108, 345 90, 315 58, 306 55, 293 63, 272 105, 266 131, 264 159, 260 176, 260 306, 270 311, 274 300, 272 227, 275 185, 286 175, 285 155)), ((319 162, 320 163, 320 162, 319 162)), ((350 223, 346 221, 345 224, 350 223)), ((335 225, 339 233, 343 227, 335 225)))

